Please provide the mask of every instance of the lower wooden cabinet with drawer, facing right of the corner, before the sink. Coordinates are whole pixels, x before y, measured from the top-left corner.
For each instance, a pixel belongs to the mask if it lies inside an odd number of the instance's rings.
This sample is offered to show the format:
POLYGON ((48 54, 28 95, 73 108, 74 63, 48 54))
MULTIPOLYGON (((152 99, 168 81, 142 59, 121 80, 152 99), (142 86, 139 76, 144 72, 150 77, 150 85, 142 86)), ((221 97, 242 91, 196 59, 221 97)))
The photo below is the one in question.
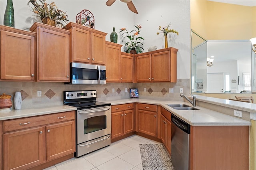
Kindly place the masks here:
POLYGON ((157 106, 138 103, 138 132, 157 137, 157 106))

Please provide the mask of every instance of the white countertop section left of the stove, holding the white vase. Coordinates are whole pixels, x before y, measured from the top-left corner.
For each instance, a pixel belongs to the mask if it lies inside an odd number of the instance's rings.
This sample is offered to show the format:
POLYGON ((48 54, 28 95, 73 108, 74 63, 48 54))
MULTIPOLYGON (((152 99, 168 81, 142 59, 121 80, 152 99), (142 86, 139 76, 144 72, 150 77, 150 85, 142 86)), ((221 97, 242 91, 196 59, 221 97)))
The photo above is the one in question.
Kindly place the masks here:
POLYGON ((1 111, 0 121, 8 120, 8 119, 23 118, 23 117, 47 115, 51 113, 75 111, 75 110, 76 110, 76 107, 72 107, 68 105, 44 106, 44 107, 36 107, 32 109, 20 109, 20 110, 13 109, 11 111, 3 111, 3 112, 1 111))

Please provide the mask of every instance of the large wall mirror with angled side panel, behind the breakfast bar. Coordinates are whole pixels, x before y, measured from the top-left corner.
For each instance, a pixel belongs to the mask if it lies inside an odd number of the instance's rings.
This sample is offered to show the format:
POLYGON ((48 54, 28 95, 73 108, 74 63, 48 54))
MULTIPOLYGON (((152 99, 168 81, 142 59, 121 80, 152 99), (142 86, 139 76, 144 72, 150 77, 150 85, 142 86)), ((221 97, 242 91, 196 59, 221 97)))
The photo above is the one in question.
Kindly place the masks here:
POLYGON ((254 55, 249 40, 206 40, 191 30, 191 45, 192 94, 252 92, 254 55))

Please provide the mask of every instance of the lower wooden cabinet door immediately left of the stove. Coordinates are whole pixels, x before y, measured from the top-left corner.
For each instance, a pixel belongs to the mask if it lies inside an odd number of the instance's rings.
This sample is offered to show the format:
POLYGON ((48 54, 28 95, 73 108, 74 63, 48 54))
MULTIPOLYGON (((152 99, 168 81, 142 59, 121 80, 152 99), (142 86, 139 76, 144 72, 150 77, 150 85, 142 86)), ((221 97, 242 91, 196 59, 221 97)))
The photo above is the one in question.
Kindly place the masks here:
POLYGON ((76 151, 75 121, 46 126, 46 160, 76 151))

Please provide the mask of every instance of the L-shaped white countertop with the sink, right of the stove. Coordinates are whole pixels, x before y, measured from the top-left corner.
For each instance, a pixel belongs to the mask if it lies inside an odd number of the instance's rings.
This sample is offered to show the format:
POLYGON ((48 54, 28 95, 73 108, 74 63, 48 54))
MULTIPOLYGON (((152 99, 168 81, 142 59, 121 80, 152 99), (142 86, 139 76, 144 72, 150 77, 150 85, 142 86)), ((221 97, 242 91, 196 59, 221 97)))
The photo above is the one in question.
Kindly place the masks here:
MULTIPOLYGON (((190 103, 182 101, 160 101, 151 99, 117 99, 117 100, 102 100, 102 102, 111 103, 111 105, 119 105, 125 103, 147 103, 153 105, 161 105, 164 109, 170 111, 180 119, 192 126, 250 126, 250 121, 240 118, 232 117, 206 109, 204 107, 196 107, 199 110, 176 110, 166 104, 186 104, 192 106, 190 103)), ((242 102, 241 102, 242 103, 242 102)))

